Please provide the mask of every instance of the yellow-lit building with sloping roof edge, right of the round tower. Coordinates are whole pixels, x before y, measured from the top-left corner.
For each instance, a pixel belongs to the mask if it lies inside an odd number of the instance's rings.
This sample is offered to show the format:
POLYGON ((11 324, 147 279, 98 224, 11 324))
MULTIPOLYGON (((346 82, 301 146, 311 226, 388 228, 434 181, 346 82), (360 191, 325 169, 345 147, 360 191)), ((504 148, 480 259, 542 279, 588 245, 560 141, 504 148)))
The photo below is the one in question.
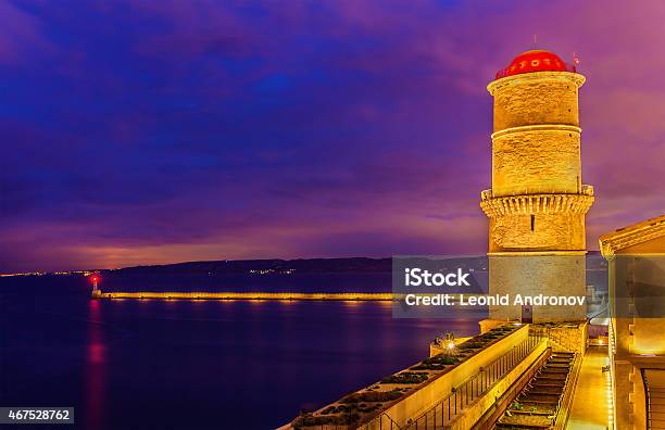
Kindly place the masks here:
POLYGON ((615 429, 665 429, 665 215, 600 237, 615 429))

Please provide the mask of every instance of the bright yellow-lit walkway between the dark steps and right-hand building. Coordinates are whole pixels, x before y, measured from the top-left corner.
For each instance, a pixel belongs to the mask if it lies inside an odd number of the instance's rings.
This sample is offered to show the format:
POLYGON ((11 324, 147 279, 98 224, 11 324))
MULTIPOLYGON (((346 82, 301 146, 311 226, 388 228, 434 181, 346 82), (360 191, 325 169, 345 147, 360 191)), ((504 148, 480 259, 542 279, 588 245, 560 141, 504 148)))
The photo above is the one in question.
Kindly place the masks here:
POLYGON ((579 379, 573 397, 567 428, 572 430, 604 430, 608 421, 610 372, 602 372, 607 366, 607 347, 589 346, 579 371, 579 379))

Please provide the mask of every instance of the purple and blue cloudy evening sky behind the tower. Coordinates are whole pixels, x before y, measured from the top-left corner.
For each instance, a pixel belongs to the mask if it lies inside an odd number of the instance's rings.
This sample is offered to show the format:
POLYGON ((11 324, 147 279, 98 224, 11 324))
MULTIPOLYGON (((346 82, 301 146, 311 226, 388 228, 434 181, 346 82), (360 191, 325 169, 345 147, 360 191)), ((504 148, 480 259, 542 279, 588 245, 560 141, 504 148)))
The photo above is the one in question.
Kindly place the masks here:
POLYGON ((662 1, 0 1, 0 273, 484 253, 486 85, 534 34, 588 78, 598 249, 665 212, 663 22, 662 1))

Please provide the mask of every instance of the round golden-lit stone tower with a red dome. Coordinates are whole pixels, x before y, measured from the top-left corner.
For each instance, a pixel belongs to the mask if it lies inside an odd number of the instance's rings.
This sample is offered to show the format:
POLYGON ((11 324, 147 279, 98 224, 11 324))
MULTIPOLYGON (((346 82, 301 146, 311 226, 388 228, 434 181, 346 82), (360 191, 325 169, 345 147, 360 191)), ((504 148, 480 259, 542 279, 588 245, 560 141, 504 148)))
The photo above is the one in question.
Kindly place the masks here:
POLYGON ((582 185, 578 90, 585 77, 556 54, 531 50, 497 73, 489 217, 490 319, 573 321, 586 304, 523 306, 516 294, 585 296, 585 215, 593 188, 582 185))

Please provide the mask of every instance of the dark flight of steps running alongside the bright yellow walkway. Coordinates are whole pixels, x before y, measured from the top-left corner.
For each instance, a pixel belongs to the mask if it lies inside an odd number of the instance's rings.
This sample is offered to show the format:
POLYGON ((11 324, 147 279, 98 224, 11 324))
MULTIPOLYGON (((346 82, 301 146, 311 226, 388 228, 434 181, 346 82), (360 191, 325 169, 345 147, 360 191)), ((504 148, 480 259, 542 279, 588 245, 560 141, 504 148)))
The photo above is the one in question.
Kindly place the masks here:
POLYGON ((551 429, 574 362, 574 353, 553 353, 499 418, 494 428, 551 429))

